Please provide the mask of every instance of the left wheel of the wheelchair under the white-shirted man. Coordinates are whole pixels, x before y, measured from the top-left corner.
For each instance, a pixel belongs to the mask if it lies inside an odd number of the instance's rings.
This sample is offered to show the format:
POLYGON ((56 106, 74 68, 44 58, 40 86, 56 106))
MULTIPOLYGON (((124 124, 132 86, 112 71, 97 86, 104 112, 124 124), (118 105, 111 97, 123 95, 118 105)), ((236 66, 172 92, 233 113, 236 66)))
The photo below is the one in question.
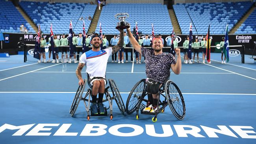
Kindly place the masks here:
POLYGON ((73 117, 75 112, 76 112, 76 109, 80 103, 80 100, 83 96, 83 91, 85 89, 85 82, 86 82, 86 79, 83 81, 84 82, 84 85, 79 85, 78 89, 76 90, 76 95, 74 97, 74 100, 72 102, 72 105, 70 107, 70 115, 73 117))

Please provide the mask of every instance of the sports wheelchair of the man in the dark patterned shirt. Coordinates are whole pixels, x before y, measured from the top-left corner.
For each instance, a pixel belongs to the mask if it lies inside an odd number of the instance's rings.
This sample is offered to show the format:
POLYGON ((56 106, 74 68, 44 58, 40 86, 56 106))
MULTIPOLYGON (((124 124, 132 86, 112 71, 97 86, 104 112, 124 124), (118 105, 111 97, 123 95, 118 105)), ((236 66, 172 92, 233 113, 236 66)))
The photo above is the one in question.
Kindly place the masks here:
POLYGON ((186 113, 185 102, 178 86, 173 81, 168 80, 167 82, 162 84, 158 94, 158 110, 156 111, 156 113, 149 113, 143 111, 144 107, 146 106, 145 104, 147 104, 148 102, 148 100, 145 99, 145 96, 147 96, 147 83, 146 79, 141 79, 132 88, 132 91, 127 98, 126 113, 132 114, 134 113, 134 111, 136 111, 136 119, 138 120, 140 110, 141 114, 154 115, 152 121, 156 122, 157 115, 159 113, 163 113, 165 111, 165 107, 169 105, 174 116, 178 118, 178 120, 183 120, 186 113), (164 98, 162 102, 160 100, 160 95, 164 98))

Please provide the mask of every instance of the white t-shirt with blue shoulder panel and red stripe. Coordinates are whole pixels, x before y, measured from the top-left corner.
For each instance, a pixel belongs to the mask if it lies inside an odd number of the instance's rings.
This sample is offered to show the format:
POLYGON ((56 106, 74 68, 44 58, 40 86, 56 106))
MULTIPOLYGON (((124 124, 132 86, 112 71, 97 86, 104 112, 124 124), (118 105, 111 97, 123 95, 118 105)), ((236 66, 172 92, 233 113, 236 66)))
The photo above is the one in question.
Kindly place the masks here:
POLYGON ((81 55, 79 63, 86 65, 86 72, 90 77, 105 78, 108 57, 110 55, 112 55, 112 48, 106 48, 98 52, 89 50, 81 55))

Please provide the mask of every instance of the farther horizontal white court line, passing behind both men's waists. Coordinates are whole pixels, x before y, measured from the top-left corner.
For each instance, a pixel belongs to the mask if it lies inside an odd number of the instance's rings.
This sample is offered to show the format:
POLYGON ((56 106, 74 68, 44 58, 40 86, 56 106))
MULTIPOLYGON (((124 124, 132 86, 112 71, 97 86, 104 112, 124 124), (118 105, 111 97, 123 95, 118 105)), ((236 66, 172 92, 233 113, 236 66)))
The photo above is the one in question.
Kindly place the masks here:
MULTIPOLYGON (((37 73, 75 73, 75 72, 38 72, 37 73)), ((86 72, 82 72, 86 73, 86 72)), ((134 73, 134 74, 145 74, 145 72, 106 72, 106 73, 134 73)), ((174 74, 171 72, 171 74, 174 74)), ((181 72, 180 74, 234 74, 232 72, 181 72)))

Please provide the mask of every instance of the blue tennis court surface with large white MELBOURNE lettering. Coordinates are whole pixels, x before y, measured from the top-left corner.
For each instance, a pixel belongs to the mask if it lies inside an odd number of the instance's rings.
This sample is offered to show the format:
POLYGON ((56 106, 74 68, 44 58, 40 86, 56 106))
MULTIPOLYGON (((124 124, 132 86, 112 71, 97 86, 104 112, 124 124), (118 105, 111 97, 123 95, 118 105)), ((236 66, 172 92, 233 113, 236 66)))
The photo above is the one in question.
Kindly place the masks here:
MULTIPOLYGON (((91 116, 88 121, 83 102, 74 117, 69 114, 78 64, 11 58, 0 59, 1 144, 256 143, 255 63, 182 63, 181 73, 171 73, 170 79, 184 96, 184 120, 176 119, 168 106, 157 122, 145 114, 136 120, 135 112, 123 116, 113 101, 113 120, 91 116)), ((87 78, 85 67, 82 72, 87 78)), ((115 81, 126 103, 135 83, 146 78, 145 63, 117 64, 109 57, 106 77, 115 81)))

